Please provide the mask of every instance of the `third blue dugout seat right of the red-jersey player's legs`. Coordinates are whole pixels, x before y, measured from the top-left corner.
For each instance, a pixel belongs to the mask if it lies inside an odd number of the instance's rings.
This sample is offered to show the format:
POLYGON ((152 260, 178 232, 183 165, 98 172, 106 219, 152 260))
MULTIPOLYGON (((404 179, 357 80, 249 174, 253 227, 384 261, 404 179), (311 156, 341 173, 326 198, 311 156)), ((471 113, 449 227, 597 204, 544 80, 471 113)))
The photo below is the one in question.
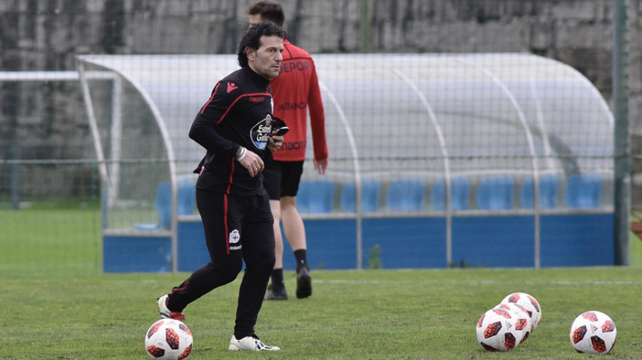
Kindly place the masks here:
POLYGON ((386 202, 390 211, 422 211, 426 182, 422 178, 396 179, 390 183, 386 202))

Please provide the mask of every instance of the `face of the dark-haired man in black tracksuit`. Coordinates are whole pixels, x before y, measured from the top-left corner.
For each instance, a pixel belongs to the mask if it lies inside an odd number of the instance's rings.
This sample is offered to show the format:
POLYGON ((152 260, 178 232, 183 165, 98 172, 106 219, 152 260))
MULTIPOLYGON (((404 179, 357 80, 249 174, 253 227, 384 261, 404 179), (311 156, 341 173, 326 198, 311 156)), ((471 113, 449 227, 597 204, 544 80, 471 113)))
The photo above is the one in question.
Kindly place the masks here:
POLYGON ((250 68, 267 80, 272 80, 279 75, 281 61, 283 60, 283 39, 276 36, 261 36, 259 48, 255 51, 246 48, 248 65, 250 68))

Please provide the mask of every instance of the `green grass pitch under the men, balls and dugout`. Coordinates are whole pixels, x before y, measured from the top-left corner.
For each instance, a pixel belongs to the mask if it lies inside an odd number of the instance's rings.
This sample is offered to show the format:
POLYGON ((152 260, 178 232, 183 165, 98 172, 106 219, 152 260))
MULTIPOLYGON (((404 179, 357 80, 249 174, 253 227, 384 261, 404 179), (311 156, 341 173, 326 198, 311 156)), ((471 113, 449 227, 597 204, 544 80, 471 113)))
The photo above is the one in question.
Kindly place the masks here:
MULTIPOLYGON (((146 359, 156 297, 188 274, 101 274, 96 227, 75 225, 95 224, 99 214, 56 213, 46 227, 35 212, 0 214, 0 359, 146 359)), ((227 350, 239 277, 185 309, 189 359, 586 359, 572 348, 569 327, 590 309, 618 329, 606 358, 641 359, 641 253, 633 236, 630 267, 315 270, 312 297, 263 305, 256 331, 281 346, 277 354, 227 350), (541 324, 514 351, 488 353, 474 326, 511 292, 539 300, 541 324)), ((294 272, 286 277, 293 295, 294 272)))

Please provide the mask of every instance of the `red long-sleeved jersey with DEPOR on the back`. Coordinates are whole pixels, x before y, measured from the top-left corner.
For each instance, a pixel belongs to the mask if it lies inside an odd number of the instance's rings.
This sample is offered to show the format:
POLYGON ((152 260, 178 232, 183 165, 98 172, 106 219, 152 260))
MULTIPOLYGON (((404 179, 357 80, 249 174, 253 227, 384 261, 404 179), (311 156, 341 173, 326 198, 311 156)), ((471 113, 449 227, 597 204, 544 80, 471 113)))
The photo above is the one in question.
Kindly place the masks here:
POLYGON ((283 61, 279 75, 270 81, 274 99, 274 115, 285 121, 290 132, 285 134, 282 147, 273 152, 280 162, 305 160, 307 137, 307 110, 310 109, 310 127, 315 159, 327 159, 325 143, 325 115, 319 90, 315 63, 307 51, 284 40, 283 61))

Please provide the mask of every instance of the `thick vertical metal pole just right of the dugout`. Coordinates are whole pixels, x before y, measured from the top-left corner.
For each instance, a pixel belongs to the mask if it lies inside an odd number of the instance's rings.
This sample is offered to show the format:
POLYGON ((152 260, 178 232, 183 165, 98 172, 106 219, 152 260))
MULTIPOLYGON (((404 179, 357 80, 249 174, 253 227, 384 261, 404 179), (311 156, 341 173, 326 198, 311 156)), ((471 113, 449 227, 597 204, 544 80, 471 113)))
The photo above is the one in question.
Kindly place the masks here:
POLYGON ((628 133, 628 0, 613 0, 613 115, 615 129, 614 253, 616 265, 629 265, 631 149, 628 133))

